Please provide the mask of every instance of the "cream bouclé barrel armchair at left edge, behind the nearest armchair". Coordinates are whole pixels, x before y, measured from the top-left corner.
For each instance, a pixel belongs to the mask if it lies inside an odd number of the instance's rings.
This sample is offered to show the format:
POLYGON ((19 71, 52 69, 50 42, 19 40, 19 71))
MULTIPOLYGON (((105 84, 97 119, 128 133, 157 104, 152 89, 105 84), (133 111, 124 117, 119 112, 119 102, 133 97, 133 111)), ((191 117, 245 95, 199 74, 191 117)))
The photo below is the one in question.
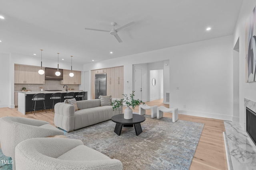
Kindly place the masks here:
POLYGON ((0 118, 1 149, 5 156, 12 157, 13 170, 15 170, 15 147, 18 143, 30 138, 51 135, 64 135, 64 132, 47 121, 11 116, 0 118))

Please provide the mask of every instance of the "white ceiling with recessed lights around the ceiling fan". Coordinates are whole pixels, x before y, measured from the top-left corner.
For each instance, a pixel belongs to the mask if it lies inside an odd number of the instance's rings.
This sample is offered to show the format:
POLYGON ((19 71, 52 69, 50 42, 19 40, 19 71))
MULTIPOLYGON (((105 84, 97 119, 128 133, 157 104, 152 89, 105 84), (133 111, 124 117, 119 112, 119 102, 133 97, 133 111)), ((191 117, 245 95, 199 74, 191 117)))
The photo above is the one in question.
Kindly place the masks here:
POLYGON ((232 35, 242 0, 0 0, 0 52, 91 63, 232 35), (122 26, 108 32, 111 22, 122 26), (212 27, 206 31, 206 27, 212 27), (110 54, 113 51, 113 54, 110 54), (94 62, 95 62, 94 61, 94 62))

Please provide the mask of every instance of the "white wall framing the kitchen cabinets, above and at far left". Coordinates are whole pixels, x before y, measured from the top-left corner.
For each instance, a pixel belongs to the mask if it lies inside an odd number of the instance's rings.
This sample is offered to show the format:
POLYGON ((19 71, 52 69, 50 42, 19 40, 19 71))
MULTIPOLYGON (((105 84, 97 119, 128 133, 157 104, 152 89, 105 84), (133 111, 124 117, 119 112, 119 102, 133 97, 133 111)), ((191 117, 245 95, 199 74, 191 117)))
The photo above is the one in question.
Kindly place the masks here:
MULTIPOLYGON (((14 108, 14 64, 26 64, 26 65, 32 65, 32 66, 41 66, 41 57, 31 57, 31 56, 25 56, 15 53, 10 53, 8 55, 0 53, 0 68, 4 69, 4 72, 7 72, 8 76, 1 75, 1 80, 6 80, 6 82, 3 82, 4 88, 0 88, 0 92, 3 99, 7 99, 8 102, 5 102, 3 105, 0 103, 0 107, 10 107, 14 108), (4 62, 2 62, 2 60, 4 62)), ((51 60, 51 59, 42 59, 42 66, 43 67, 51 67, 51 68, 57 68, 58 61, 57 60, 51 60)), ((82 82, 84 82, 84 72, 83 72, 83 65, 82 64, 75 64, 72 63, 73 70, 79 70, 82 71, 82 82)), ((70 69, 71 63, 59 61, 59 68, 61 69, 70 69)), ((80 90, 84 90, 84 83, 79 86, 80 90)), ((0 97, 1 100, 1 97, 0 97)))

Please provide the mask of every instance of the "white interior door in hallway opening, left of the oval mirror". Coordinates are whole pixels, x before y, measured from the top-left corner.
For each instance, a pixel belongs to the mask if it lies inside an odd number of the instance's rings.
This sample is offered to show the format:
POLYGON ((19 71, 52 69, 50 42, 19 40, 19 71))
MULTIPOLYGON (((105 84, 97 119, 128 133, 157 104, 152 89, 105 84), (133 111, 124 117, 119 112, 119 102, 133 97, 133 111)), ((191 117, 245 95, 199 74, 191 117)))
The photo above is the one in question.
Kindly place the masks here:
POLYGON ((134 73, 134 99, 142 100, 142 69, 135 68, 134 73))

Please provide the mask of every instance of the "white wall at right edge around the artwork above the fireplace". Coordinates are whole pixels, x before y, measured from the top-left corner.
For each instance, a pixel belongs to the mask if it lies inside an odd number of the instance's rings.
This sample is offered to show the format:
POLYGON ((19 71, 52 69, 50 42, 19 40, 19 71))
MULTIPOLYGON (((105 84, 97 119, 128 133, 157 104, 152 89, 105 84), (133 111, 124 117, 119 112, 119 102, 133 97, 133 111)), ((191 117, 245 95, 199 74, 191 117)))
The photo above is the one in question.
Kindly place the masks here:
POLYGON ((233 47, 239 38, 239 121, 245 130, 244 98, 256 102, 256 82, 245 82, 245 25, 256 6, 255 0, 244 0, 234 29, 233 47))

